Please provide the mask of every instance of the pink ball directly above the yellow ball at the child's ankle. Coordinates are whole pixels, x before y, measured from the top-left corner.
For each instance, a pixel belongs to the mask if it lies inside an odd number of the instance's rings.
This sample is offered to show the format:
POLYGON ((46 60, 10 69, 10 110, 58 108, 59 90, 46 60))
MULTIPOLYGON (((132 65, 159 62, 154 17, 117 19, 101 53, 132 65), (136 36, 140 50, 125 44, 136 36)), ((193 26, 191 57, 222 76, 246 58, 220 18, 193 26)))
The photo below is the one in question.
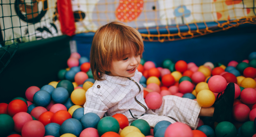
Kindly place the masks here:
POLYGON ((226 89, 226 86, 226 79, 219 75, 212 76, 208 81, 208 87, 213 93, 221 93, 226 89))

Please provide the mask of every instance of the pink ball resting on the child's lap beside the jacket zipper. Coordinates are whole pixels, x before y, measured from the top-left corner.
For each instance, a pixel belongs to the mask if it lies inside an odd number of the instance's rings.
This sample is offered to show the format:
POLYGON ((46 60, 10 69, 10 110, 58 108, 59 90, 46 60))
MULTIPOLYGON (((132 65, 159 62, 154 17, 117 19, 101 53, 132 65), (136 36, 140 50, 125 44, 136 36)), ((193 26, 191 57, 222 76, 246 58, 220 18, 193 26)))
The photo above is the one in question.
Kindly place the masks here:
POLYGON ((162 105, 162 96, 157 92, 150 92, 146 95, 145 102, 149 109, 158 109, 162 105))

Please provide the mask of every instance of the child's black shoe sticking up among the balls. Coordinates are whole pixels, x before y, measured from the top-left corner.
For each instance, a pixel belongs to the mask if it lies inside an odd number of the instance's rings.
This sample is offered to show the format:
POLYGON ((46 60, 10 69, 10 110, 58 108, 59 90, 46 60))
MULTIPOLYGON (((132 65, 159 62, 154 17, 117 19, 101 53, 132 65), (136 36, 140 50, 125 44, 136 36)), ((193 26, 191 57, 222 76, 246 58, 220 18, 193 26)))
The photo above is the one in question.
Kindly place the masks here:
POLYGON ((231 121, 232 109, 235 98, 235 84, 229 83, 222 96, 217 96, 214 103, 213 120, 217 123, 222 121, 231 121))

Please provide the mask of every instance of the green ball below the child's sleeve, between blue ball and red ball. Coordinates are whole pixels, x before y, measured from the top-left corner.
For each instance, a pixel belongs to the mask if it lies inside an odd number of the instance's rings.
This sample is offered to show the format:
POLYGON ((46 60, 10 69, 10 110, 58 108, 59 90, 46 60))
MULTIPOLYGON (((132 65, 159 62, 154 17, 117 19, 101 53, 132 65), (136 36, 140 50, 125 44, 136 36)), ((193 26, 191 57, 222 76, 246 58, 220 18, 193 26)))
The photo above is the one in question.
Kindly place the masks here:
POLYGON ((97 126, 97 130, 100 136, 108 131, 118 133, 120 129, 118 121, 113 117, 104 117, 102 118, 97 126))

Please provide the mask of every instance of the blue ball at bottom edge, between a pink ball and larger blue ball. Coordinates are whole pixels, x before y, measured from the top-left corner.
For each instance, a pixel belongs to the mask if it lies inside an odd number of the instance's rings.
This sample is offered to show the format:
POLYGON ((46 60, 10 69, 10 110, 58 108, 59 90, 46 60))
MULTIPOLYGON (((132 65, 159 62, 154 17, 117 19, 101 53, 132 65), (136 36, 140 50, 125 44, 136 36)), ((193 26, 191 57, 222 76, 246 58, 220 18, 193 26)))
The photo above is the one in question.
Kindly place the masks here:
POLYGON ((54 136, 54 137, 60 137, 60 125, 57 123, 50 123, 47 124, 45 127, 46 132, 44 133, 44 136, 54 136))

